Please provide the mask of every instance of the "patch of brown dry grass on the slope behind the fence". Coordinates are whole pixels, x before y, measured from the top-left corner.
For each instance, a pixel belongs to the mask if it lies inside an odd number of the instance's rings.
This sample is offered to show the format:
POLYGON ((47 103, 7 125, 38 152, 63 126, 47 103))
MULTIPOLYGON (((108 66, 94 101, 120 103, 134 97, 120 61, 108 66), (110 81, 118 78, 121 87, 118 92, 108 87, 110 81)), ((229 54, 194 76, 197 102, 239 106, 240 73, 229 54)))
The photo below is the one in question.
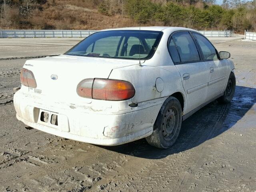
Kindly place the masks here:
POLYGON ((55 4, 54 1, 48 1, 42 11, 34 11, 27 26, 34 29, 101 30, 137 25, 132 19, 121 15, 99 14, 96 4, 89 1, 55 0, 55 4))

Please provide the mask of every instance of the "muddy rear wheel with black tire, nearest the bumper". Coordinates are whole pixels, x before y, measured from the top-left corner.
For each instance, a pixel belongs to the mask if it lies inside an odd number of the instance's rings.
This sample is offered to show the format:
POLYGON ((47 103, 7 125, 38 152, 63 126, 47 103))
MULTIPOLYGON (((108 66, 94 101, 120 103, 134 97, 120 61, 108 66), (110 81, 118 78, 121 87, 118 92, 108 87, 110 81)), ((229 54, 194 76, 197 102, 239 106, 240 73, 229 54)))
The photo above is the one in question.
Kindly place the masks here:
POLYGON ((161 149, 170 148, 180 134, 182 123, 182 108, 175 97, 170 96, 162 105, 153 133, 146 137, 148 144, 161 149))

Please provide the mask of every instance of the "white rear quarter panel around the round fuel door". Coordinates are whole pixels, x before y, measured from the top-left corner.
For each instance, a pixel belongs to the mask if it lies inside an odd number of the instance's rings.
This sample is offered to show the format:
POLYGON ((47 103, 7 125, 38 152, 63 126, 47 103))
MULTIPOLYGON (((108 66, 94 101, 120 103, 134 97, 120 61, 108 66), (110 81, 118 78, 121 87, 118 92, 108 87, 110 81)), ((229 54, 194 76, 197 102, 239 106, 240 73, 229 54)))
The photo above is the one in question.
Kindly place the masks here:
POLYGON ((112 70, 109 78, 126 80, 134 85, 133 103, 168 97, 175 92, 181 92, 186 100, 180 74, 174 65, 162 67, 134 65, 116 68, 112 70), (157 78, 162 79, 162 84, 159 84, 159 81, 156 83, 157 78), (162 85, 163 90, 159 92, 162 85))

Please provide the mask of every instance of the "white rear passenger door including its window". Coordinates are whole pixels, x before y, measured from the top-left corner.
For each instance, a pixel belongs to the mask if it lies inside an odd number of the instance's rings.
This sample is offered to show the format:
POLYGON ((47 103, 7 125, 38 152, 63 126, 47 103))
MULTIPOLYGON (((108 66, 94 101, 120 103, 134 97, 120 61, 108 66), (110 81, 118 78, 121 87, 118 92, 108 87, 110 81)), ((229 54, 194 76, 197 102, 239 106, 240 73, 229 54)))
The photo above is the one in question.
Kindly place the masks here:
POLYGON ((184 113, 187 113, 206 102, 208 65, 202 60, 199 48, 188 31, 174 32, 169 38, 168 50, 186 92, 184 113))

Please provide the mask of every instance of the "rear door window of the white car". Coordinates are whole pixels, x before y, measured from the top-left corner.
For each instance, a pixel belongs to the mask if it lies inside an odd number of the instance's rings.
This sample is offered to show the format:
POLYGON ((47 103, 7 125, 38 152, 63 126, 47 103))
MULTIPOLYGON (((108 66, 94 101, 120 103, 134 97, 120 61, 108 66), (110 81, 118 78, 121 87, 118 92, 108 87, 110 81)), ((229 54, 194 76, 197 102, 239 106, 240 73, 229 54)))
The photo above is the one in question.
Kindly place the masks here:
POLYGON ((189 32, 176 32, 172 35, 172 39, 178 49, 181 62, 200 60, 198 50, 189 32))

